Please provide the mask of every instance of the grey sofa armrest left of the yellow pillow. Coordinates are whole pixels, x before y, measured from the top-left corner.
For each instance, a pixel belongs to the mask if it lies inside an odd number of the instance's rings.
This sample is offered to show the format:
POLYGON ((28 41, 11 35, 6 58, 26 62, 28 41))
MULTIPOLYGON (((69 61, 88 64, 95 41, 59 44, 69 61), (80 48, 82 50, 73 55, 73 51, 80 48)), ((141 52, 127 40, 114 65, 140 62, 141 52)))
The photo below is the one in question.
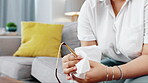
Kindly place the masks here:
POLYGON ((21 36, 0 36, 0 56, 12 56, 21 44, 21 36))

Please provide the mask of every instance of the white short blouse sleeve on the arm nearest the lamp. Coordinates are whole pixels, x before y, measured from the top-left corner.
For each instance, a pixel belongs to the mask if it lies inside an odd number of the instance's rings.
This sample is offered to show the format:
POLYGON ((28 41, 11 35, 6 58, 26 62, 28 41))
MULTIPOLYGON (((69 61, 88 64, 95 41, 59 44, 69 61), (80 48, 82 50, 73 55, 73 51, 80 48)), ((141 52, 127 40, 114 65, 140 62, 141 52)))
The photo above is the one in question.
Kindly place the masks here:
POLYGON ((91 7, 88 5, 87 0, 84 2, 80 16, 78 19, 78 39, 81 41, 93 41, 96 40, 92 31, 91 20, 91 7))

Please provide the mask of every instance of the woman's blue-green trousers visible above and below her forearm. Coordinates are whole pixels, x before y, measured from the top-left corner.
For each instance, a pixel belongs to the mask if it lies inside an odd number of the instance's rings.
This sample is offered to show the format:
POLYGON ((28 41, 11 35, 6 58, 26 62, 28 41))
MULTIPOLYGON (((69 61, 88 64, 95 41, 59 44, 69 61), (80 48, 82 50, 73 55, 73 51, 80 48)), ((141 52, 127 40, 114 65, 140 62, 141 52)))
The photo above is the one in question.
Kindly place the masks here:
MULTIPOLYGON (((117 66, 117 65, 125 64, 123 62, 115 61, 110 58, 102 60, 101 63, 107 66, 117 66)), ((148 83, 148 76, 141 76, 141 77, 126 79, 126 80, 106 81, 106 83, 146 83, 146 82, 148 83)))

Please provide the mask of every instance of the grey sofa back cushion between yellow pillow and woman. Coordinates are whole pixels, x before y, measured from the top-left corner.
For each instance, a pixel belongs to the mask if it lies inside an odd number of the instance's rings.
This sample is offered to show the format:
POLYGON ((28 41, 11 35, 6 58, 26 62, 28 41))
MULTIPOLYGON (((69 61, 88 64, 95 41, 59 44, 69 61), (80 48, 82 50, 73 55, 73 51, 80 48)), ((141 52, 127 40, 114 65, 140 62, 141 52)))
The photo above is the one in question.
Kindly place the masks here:
MULTIPOLYGON (((77 38, 77 22, 64 24, 62 41, 69 45, 73 50, 76 47, 80 47, 80 41, 77 38)), ((62 46, 62 56, 69 53, 69 50, 65 46, 62 46)))

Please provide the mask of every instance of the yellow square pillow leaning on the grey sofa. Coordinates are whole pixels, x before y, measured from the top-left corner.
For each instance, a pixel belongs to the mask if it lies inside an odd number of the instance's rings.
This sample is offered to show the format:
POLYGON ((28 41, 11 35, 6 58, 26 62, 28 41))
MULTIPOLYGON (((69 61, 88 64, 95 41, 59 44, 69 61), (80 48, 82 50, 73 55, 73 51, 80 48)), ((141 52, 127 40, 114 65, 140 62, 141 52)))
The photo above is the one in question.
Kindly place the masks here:
POLYGON ((22 22, 22 42, 14 56, 56 57, 62 39, 63 25, 22 22))

